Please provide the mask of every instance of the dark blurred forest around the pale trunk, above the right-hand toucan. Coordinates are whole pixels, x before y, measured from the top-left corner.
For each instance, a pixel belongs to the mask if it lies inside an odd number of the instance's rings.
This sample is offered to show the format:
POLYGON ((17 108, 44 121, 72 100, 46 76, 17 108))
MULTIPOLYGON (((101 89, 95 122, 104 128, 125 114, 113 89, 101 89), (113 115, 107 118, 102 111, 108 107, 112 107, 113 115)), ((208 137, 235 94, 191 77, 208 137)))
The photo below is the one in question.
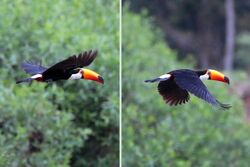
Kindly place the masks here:
POLYGON ((197 60, 196 66, 203 68, 224 67, 223 62, 228 58, 225 52, 226 38, 229 37, 227 20, 233 20, 234 15, 235 23, 230 25, 236 28, 236 41, 232 39, 235 41, 235 59, 232 63, 234 68, 249 69, 246 65, 250 63, 249 56, 243 56, 243 53, 248 53, 250 46, 250 1, 123 1, 129 2, 129 8, 134 12, 147 9, 169 46, 178 51, 178 57, 182 59, 192 54, 197 60), (226 6, 232 6, 230 15, 226 6))

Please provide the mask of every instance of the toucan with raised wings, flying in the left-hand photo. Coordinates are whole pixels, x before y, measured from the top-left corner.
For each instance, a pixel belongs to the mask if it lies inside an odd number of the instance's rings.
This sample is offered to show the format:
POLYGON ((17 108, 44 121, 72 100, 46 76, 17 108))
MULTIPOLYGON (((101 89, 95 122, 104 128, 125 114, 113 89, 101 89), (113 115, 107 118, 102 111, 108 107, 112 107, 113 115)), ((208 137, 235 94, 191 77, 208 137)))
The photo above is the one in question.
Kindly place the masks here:
POLYGON ((31 82, 52 82, 58 80, 86 79, 104 83, 103 78, 96 72, 83 68, 90 65, 97 56, 97 51, 82 52, 73 55, 50 68, 43 67, 40 63, 24 62, 22 68, 30 75, 29 78, 18 80, 16 83, 31 82))

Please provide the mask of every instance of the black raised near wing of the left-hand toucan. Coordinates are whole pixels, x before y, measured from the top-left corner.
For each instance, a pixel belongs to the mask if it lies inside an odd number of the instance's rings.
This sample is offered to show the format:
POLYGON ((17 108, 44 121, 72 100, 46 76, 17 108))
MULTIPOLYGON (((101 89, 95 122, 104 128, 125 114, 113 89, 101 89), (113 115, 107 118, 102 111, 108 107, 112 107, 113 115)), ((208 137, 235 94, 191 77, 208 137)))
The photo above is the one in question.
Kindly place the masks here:
POLYGON ((58 76, 60 78, 60 76, 63 76, 65 73, 68 73, 71 70, 90 65, 96 56, 97 51, 92 50, 82 52, 78 55, 73 55, 48 68, 43 72, 43 77, 45 80, 54 76, 58 76))

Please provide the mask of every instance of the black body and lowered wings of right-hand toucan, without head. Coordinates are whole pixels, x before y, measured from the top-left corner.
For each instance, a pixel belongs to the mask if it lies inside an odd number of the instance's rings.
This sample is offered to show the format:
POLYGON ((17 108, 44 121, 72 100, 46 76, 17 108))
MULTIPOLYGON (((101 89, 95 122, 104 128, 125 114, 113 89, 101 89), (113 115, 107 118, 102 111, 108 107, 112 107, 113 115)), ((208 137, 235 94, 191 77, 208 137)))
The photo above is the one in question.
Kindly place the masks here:
MULTIPOLYGON (((190 92, 212 105, 220 106, 223 109, 230 108, 230 105, 220 103, 210 94, 207 87, 199 78, 205 73, 206 70, 192 71, 181 69, 171 71, 168 73, 171 75, 168 80, 159 82, 158 91, 162 95, 164 101, 169 105, 186 103, 190 99, 188 93, 190 92)), ((148 82, 150 82, 150 80, 148 82)))

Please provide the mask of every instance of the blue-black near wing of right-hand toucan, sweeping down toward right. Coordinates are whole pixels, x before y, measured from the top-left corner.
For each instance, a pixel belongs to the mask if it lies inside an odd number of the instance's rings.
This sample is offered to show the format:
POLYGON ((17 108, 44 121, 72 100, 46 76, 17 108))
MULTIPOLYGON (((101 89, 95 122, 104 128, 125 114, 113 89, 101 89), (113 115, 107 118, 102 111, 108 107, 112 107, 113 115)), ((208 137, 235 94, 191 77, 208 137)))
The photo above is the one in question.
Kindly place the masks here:
POLYGON ((191 92, 212 105, 220 106, 223 109, 229 109, 231 107, 216 100, 195 72, 191 70, 178 70, 175 71, 173 75, 174 81, 180 88, 191 92))

